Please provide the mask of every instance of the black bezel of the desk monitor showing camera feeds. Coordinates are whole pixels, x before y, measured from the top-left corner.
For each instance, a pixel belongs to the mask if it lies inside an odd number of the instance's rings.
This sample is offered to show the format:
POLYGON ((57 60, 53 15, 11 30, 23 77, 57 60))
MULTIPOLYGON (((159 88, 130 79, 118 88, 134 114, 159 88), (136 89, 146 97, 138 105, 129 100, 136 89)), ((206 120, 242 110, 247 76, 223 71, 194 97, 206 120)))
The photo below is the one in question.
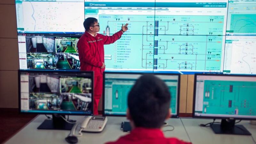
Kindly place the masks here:
POLYGON ((38 114, 38 115, 40 115, 40 114, 43 114, 43 115, 55 115, 55 114, 57 114, 57 115, 74 115, 74 116, 93 116, 93 105, 94 105, 94 72, 93 71, 70 71, 70 70, 58 70, 58 71, 56 71, 56 70, 38 70, 38 69, 31 69, 31 70, 23 70, 23 69, 19 69, 18 70, 18 92, 19 92, 19 96, 18 96, 18 99, 19 99, 19 113, 21 113, 21 114, 38 114), (21 100, 20 100, 20 74, 22 73, 22 72, 28 72, 28 73, 30 73, 30 72, 40 72, 40 73, 70 73, 70 76, 72 76, 72 73, 76 73, 76 74, 82 74, 82 73, 88 73, 88 74, 91 74, 91 76, 92 76, 92 113, 91 114, 86 114, 86 113, 83 113, 83 114, 74 114, 74 113, 72 113, 71 111, 67 111, 67 112, 61 112, 61 113, 58 113, 58 111, 56 111, 56 112, 54 112, 55 110, 51 110, 51 111, 53 111, 53 112, 24 112, 24 111, 21 111, 21 100))

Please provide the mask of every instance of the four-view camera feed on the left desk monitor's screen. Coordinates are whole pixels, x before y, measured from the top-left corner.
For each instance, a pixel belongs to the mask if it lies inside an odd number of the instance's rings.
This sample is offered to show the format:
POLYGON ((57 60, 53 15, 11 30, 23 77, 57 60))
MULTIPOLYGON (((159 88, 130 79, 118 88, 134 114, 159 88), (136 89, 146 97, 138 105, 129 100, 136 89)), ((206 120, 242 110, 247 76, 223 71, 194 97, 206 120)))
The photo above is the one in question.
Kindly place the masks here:
POLYGON ((72 111, 77 114, 92 112, 91 78, 54 74, 21 75, 20 78, 21 111, 72 111))

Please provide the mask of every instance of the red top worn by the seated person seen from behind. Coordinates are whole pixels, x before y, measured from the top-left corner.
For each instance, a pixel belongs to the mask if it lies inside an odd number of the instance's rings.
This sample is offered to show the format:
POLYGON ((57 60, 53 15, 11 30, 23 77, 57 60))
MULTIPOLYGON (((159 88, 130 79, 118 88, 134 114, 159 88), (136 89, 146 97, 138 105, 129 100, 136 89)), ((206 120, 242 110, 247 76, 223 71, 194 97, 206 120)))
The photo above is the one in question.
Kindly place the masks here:
POLYGON ((106 144, 191 144, 177 138, 165 138, 160 129, 149 129, 138 127, 130 134, 120 137, 115 142, 106 144))

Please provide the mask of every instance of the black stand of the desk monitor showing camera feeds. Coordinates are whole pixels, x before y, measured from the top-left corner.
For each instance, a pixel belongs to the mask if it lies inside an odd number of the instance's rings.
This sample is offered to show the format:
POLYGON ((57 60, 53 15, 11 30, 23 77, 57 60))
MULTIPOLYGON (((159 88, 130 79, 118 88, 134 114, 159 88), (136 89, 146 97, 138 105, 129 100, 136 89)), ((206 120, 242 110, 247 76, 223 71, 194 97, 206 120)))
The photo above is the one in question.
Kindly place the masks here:
MULTIPOLYGON (((67 123, 65 115, 52 115, 52 119, 46 119, 37 127, 39 130, 71 130, 74 124, 67 123)), ((75 121, 72 121, 75 122, 75 121)))

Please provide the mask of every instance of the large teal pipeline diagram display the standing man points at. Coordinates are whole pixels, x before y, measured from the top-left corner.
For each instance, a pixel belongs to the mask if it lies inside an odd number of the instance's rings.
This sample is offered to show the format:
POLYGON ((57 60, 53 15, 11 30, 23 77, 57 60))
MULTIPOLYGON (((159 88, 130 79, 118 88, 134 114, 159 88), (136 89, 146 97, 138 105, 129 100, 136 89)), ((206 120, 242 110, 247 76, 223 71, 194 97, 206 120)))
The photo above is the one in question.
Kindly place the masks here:
POLYGON ((105 35, 129 24, 120 40, 105 46, 111 70, 221 72, 227 4, 86 0, 85 18, 97 18, 105 35))

